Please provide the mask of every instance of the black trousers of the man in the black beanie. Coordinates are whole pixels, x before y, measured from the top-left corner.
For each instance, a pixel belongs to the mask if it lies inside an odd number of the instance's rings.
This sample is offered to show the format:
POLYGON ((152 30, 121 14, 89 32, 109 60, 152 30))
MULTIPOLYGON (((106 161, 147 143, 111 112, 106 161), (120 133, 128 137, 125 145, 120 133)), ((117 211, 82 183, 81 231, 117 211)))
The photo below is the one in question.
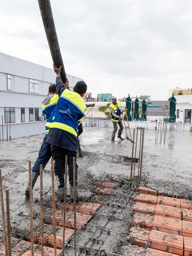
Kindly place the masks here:
MULTIPOLYGON (((54 171, 55 171, 55 175, 58 178, 57 186, 60 188, 64 187, 65 156, 68 156, 67 164, 68 164, 68 173, 69 173, 69 184, 71 187, 73 187, 73 157, 75 157, 75 160, 77 159, 77 152, 66 149, 66 148, 60 148, 60 147, 51 145, 51 153, 52 153, 52 158, 55 161, 54 171)), ((78 168, 78 165, 76 164, 76 185, 77 185, 77 168, 78 168)))

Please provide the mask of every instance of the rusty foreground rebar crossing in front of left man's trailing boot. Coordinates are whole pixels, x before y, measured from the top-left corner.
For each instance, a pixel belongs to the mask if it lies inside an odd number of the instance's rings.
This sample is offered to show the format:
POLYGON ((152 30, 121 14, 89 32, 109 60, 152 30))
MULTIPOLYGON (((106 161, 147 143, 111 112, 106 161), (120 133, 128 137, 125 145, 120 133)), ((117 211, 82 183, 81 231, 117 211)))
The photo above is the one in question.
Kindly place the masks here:
POLYGON ((31 228, 31 256, 34 256, 34 234, 33 234, 33 193, 32 193, 32 172, 31 161, 28 160, 29 171, 29 206, 30 206, 30 228, 31 228))

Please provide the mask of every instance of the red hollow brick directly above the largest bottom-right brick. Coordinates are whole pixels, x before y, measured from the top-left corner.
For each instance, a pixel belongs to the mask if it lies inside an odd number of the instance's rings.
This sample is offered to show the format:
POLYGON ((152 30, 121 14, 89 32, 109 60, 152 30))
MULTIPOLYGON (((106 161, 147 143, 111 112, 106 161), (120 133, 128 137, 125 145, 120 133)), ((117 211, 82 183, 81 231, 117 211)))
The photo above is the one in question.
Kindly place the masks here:
POLYGON ((161 216, 155 215, 154 220, 153 220, 153 228, 152 229, 181 236, 182 235, 182 220, 164 218, 163 216, 161 217, 161 216))

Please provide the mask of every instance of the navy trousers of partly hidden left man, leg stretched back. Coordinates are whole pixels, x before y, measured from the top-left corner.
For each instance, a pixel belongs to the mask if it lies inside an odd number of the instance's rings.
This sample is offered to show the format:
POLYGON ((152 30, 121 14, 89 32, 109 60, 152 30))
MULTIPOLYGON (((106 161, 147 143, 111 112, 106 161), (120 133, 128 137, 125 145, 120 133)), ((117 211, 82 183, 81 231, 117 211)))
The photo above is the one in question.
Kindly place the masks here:
POLYGON ((39 165, 42 164, 44 169, 46 164, 49 162, 49 159, 51 158, 51 145, 46 142, 46 138, 47 134, 45 134, 43 143, 39 150, 39 156, 37 157, 37 160, 32 168, 32 172, 39 173, 39 165))

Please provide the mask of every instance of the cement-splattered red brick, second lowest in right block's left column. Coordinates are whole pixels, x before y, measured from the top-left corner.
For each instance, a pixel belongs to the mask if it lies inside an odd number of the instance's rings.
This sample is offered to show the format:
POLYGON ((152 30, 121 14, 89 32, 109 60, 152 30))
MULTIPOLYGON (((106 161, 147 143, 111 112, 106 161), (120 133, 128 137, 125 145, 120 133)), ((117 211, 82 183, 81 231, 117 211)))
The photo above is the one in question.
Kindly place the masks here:
POLYGON ((148 215, 136 212, 133 215, 134 222, 136 225, 139 225, 141 228, 152 229, 154 215, 148 215))

